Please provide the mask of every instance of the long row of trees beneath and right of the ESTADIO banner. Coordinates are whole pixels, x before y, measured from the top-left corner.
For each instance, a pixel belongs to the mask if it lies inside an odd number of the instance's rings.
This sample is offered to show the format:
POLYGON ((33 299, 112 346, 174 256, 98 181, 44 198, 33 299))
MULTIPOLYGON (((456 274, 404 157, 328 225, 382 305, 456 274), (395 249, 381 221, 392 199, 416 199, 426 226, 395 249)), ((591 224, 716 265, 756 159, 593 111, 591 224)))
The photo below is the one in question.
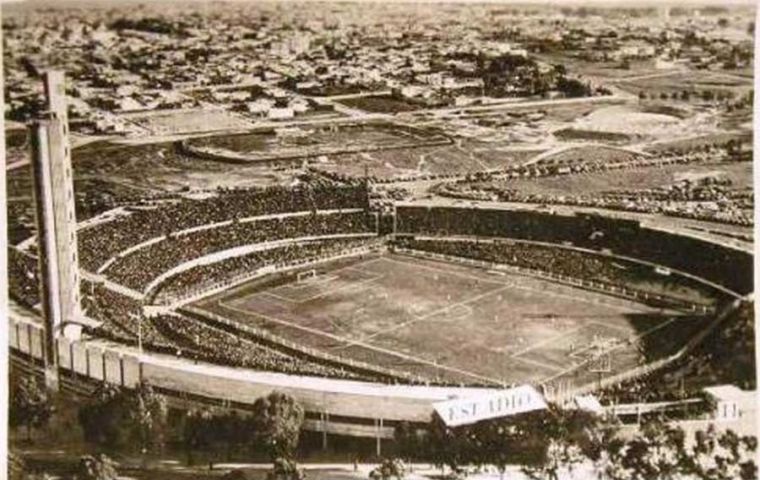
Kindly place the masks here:
POLYGON ((635 432, 617 420, 582 410, 548 410, 447 427, 437 416, 423 429, 402 423, 399 457, 448 467, 455 475, 495 467, 502 475, 519 466, 534 479, 556 480, 581 465, 599 480, 757 478, 757 438, 712 426, 692 441, 663 418, 646 419, 635 432))

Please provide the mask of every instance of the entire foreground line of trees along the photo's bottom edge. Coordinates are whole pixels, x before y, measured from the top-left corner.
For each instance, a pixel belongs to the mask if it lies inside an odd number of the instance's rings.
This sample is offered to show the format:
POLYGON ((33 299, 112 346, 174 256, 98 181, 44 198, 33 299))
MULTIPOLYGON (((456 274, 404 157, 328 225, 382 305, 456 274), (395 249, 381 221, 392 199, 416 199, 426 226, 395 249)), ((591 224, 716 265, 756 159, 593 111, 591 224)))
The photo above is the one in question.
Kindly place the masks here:
MULTIPOLYGON (((51 401, 35 377, 12 379, 10 425, 34 428, 53 415, 51 401)), ((250 413, 207 408, 182 414, 177 435, 192 463, 193 452, 250 447, 266 453, 276 480, 301 480, 295 453, 303 426, 303 408, 290 396, 272 392, 257 399, 250 413)), ((138 449, 161 452, 170 436, 166 398, 143 385, 123 389, 103 384, 79 410, 85 440, 98 449, 82 457, 75 478, 112 478, 113 462, 104 455, 138 449)), ((431 462, 455 474, 471 468, 495 467, 502 475, 519 466, 530 478, 557 480, 583 465, 599 480, 757 478, 753 460, 757 438, 712 426, 687 438, 679 426, 663 418, 645 419, 640 428, 625 430, 614 418, 580 409, 548 409, 448 427, 437 415, 423 428, 400 423, 394 458, 385 459, 371 477, 401 478, 407 462, 431 462)), ((213 464, 209 465, 213 467, 213 464)), ((246 478, 233 472, 230 478, 246 478)))

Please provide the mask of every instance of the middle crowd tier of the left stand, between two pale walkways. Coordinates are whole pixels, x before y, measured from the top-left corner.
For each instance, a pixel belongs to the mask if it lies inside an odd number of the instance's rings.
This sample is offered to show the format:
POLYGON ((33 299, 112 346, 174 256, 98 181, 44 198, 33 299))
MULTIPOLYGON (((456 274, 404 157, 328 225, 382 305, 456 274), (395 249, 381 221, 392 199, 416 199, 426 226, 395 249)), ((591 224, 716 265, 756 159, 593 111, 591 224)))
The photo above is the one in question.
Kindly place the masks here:
POLYGON ((370 233, 374 220, 365 212, 307 214, 253 222, 233 222, 166 239, 119 257, 105 271, 117 283, 143 291, 172 267, 235 247, 287 238, 370 233))

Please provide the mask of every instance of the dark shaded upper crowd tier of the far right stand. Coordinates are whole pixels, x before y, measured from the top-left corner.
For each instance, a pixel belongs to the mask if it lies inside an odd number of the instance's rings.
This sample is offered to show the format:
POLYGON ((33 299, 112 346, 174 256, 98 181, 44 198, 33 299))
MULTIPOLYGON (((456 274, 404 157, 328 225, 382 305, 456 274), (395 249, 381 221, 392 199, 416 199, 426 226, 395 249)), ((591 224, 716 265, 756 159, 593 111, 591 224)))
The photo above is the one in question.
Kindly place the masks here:
POLYGON ((679 232, 602 215, 473 207, 397 206, 397 234, 534 240, 608 250, 710 280, 740 294, 753 291, 752 255, 679 232))

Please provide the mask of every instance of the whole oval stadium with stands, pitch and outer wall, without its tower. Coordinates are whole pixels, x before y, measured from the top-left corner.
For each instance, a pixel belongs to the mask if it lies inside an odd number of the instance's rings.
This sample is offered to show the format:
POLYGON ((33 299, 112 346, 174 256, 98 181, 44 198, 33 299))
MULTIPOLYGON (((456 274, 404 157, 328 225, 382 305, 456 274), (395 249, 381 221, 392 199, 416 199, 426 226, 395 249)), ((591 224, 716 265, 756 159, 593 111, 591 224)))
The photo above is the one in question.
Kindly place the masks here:
MULTIPOLYGON (((307 429, 389 438, 452 396, 531 384, 563 402, 649 375, 752 291, 751 250, 725 236, 583 209, 378 208, 370 189, 218 190, 80 224, 67 382, 241 409, 276 388, 307 429)), ((17 310, 39 308, 36 255, 9 248, 17 310)), ((41 361, 38 321, 10 327, 14 353, 41 361)))

